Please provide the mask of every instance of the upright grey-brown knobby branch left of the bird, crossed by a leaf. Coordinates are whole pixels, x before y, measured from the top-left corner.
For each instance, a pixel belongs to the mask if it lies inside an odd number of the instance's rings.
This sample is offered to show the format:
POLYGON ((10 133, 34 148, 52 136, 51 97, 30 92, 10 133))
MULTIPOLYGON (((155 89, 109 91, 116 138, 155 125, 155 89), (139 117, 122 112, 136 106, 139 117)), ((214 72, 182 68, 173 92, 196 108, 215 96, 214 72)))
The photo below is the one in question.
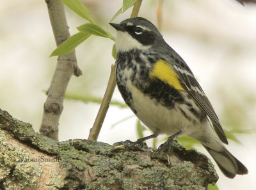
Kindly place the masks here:
MULTIPOLYGON (((58 46, 70 36, 64 6, 60 0, 46 0, 45 2, 49 12, 52 32, 58 46)), ((58 125, 63 110, 63 99, 73 73, 77 77, 82 75, 77 66, 75 51, 58 57, 57 67, 44 103, 40 133, 55 140, 58 140, 58 125)))

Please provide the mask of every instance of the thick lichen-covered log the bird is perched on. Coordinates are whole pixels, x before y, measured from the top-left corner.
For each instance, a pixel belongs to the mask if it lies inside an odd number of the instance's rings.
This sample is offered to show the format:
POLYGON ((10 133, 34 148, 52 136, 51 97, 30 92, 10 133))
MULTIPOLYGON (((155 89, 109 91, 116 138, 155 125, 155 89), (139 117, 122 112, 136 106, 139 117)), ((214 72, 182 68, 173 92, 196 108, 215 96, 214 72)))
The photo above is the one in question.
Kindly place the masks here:
POLYGON ((205 189, 217 180, 206 156, 179 143, 167 154, 129 142, 57 142, 0 110, 0 189, 205 189))

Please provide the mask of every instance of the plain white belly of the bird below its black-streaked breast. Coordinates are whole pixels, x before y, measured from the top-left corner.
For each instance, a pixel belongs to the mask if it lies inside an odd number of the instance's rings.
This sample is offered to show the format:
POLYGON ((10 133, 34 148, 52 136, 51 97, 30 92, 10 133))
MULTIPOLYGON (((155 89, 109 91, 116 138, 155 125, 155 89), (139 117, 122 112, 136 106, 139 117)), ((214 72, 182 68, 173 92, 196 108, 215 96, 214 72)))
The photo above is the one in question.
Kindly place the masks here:
POLYGON ((174 109, 168 109, 157 103, 156 99, 150 99, 134 87, 130 80, 127 81, 127 89, 132 92, 132 105, 137 111, 137 117, 152 131, 159 134, 174 135, 181 129, 186 131, 186 128, 191 126, 191 122, 184 117, 178 108, 174 106, 174 109))

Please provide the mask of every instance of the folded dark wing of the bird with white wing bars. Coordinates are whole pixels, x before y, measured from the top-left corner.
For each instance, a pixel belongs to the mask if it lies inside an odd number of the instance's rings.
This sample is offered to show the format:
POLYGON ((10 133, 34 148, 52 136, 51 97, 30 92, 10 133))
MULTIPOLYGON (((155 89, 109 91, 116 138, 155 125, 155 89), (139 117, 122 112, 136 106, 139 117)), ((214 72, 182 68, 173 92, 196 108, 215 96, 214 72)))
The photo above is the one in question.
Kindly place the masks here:
MULTIPOLYGON (((181 61, 181 60, 179 60, 181 61)), ((169 66, 171 66, 169 64, 169 66)), ((228 144, 227 136, 225 135, 223 129, 221 128, 220 121, 218 116, 214 112, 212 108, 211 102, 205 95, 202 87, 196 81, 192 71, 189 69, 187 64, 182 61, 182 64, 175 64, 173 66, 175 73, 179 76, 180 85, 184 88, 186 92, 188 92, 189 96, 195 101, 196 105, 198 105, 209 117, 212 122, 212 126, 214 127, 217 135, 223 143, 228 144)))

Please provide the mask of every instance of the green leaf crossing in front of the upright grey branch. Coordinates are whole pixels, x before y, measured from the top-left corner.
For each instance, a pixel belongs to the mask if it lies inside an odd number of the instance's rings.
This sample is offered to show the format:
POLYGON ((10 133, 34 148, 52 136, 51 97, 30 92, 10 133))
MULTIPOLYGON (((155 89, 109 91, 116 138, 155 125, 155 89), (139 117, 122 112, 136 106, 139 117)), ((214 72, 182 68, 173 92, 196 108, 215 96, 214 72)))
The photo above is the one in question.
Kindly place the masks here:
POLYGON ((90 37, 90 34, 84 34, 84 33, 76 33, 73 36, 70 36, 66 41, 63 41, 61 45, 59 45, 50 55, 51 56, 57 56, 57 55, 65 55, 74 48, 77 47, 80 43, 82 43, 84 40, 90 37))

